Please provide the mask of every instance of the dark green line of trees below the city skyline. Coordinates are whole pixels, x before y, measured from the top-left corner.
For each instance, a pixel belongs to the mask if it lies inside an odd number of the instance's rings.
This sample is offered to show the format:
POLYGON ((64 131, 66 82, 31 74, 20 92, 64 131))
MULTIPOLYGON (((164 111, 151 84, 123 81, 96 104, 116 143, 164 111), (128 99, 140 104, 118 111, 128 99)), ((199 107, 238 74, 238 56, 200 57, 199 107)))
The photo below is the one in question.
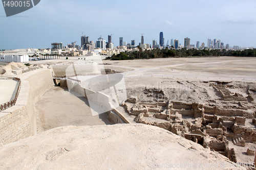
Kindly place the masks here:
POLYGON ((111 60, 133 60, 133 59, 153 59, 153 58, 169 58, 169 57, 219 57, 219 56, 233 56, 233 57, 256 57, 256 49, 248 49, 243 51, 233 51, 233 50, 197 50, 195 48, 186 50, 182 49, 153 49, 142 51, 138 47, 138 51, 134 52, 121 52, 118 55, 113 55, 106 59, 111 60))

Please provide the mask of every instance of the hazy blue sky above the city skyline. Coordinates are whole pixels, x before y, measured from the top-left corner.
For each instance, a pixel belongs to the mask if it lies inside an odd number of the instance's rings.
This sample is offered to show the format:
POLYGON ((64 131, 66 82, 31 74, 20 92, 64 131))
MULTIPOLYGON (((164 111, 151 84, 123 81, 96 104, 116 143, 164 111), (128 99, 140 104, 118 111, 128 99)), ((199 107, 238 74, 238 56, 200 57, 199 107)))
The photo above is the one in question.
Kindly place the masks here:
POLYGON ((0 5, 0 49, 47 48, 52 42, 63 45, 77 41, 82 32, 96 41, 100 35, 118 45, 144 34, 152 44, 162 31, 167 40, 190 38, 190 44, 207 45, 207 39, 221 39, 230 46, 256 47, 255 0, 41 0, 34 8, 6 17, 0 5))

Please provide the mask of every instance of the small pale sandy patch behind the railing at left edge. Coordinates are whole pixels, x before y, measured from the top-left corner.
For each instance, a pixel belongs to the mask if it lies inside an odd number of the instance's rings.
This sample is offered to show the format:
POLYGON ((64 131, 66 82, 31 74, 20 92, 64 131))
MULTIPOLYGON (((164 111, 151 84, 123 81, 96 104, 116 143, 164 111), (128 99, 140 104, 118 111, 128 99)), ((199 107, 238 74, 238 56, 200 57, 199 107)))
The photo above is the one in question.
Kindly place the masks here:
POLYGON ((9 102, 15 97, 17 84, 15 80, 0 80, 0 104, 9 102))

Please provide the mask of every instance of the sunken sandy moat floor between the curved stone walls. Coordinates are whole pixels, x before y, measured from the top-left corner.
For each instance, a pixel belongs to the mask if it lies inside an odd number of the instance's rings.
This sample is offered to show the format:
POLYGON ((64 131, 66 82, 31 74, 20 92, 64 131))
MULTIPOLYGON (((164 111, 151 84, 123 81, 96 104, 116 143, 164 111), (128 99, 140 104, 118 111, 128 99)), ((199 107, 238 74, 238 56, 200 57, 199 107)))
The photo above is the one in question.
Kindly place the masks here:
POLYGON ((70 94, 67 88, 53 87, 36 102, 38 132, 61 126, 110 125, 106 114, 92 116, 88 101, 70 94))

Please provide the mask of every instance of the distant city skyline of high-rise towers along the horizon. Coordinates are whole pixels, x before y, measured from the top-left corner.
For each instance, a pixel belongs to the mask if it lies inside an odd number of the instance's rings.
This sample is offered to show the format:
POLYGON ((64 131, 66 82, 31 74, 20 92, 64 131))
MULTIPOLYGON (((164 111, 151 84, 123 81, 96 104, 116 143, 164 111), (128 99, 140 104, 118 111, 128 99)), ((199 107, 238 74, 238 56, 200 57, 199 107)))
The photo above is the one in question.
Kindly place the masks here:
MULTIPOLYGON (((138 45, 135 43, 136 39, 131 40, 131 43, 127 43, 126 41, 123 41, 123 37, 119 37, 119 45, 114 46, 114 43, 112 42, 112 34, 108 35, 108 42, 103 40, 103 38, 100 36, 96 42, 90 41, 89 36, 82 35, 81 36, 81 45, 76 44, 77 41, 72 42, 71 44, 68 44, 67 46, 63 46, 62 43, 52 43, 50 52, 52 54, 61 54, 61 55, 91 55, 101 53, 101 55, 106 54, 119 54, 120 52, 124 51, 138 51, 138 45), (111 51, 111 52, 110 52, 111 51)), ((159 34, 159 44, 157 44, 157 40, 153 40, 151 44, 145 44, 144 42, 144 36, 141 34, 141 42, 139 42, 139 46, 144 49, 152 49, 152 48, 175 48, 175 49, 181 49, 181 48, 197 48, 198 50, 207 48, 208 50, 211 49, 227 49, 227 50, 241 50, 240 46, 232 46, 230 48, 229 44, 224 45, 224 43, 221 41, 221 39, 213 39, 211 40, 208 38, 207 46, 203 42, 200 46, 200 41, 196 41, 196 44, 190 44, 190 38, 186 37, 184 38, 184 45, 179 43, 178 39, 171 39, 170 43, 167 39, 167 43, 164 44, 164 37, 163 32, 160 32, 159 34)), ((242 48, 244 49, 244 48, 242 48)))

